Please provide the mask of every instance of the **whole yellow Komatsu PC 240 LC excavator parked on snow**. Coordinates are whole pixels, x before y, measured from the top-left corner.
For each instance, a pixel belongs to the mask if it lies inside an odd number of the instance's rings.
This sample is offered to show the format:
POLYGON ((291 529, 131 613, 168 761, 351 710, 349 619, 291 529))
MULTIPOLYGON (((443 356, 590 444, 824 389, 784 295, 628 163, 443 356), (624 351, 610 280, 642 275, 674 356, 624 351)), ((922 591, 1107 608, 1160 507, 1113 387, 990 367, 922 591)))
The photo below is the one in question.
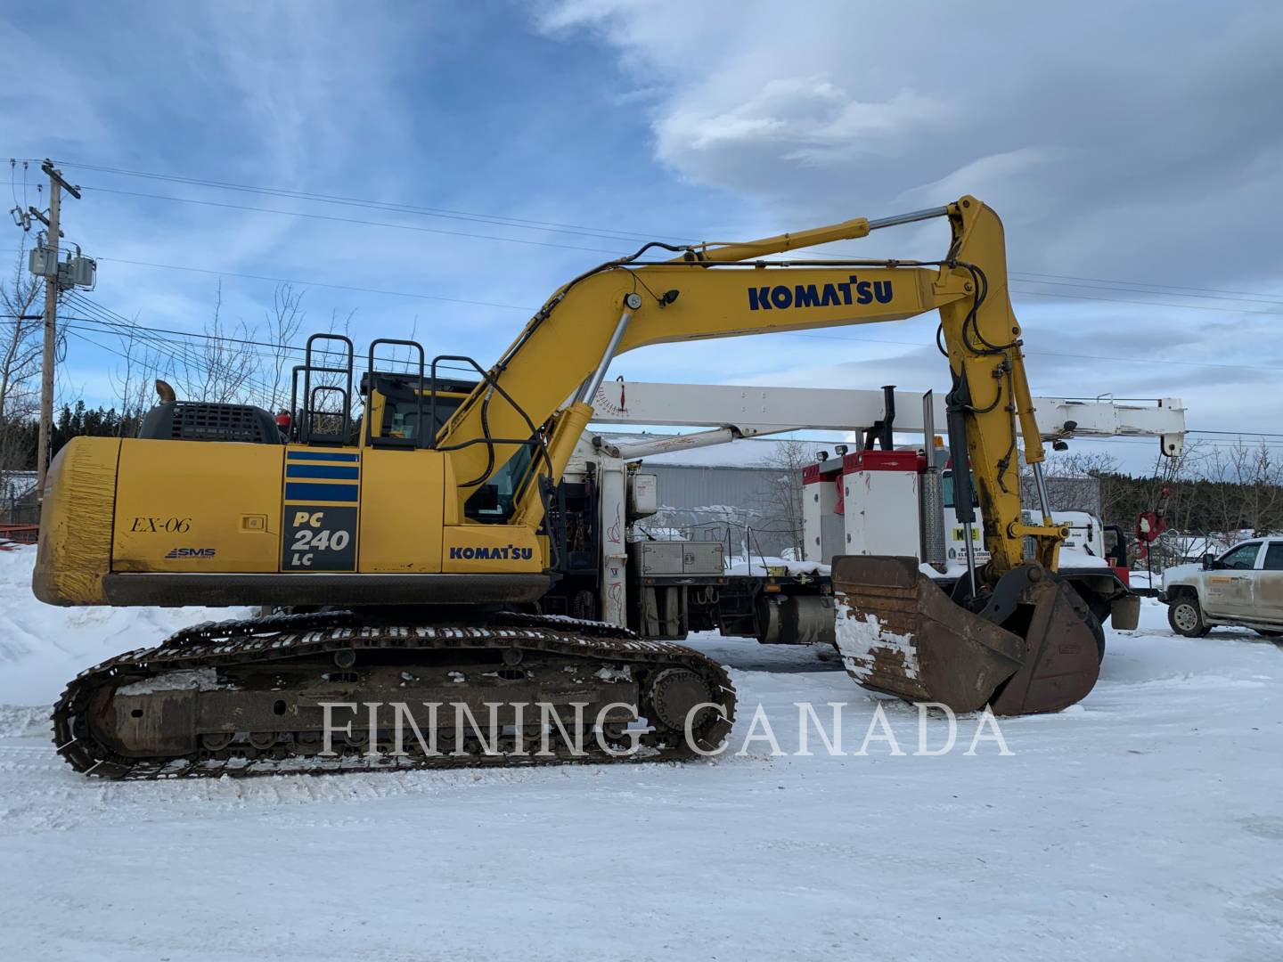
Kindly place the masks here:
POLYGON ((953 463, 973 466, 990 561, 971 559, 951 598, 916 559, 837 559, 847 668, 962 711, 1079 700, 1097 640, 1085 602, 1053 573, 1065 531, 1042 484, 1002 223, 966 196, 745 244, 647 244, 563 285, 489 369, 376 340, 359 425, 353 345, 316 335, 289 434, 258 408, 169 399, 140 437, 72 440, 44 493, 41 600, 293 613, 198 625, 82 672, 54 709, 58 750, 105 777, 716 750, 735 703, 718 664, 538 614, 566 550, 558 481, 590 400, 611 359, 635 348, 930 310, 953 380, 953 463), (767 259, 930 218, 952 231, 939 260, 767 259), (378 350, 412 358, 414 390, 380 389, 378 350), (452 381, 458 368, 475 385, 452 381), (1019 435, 1041 525, 1020 511, 1019 435))

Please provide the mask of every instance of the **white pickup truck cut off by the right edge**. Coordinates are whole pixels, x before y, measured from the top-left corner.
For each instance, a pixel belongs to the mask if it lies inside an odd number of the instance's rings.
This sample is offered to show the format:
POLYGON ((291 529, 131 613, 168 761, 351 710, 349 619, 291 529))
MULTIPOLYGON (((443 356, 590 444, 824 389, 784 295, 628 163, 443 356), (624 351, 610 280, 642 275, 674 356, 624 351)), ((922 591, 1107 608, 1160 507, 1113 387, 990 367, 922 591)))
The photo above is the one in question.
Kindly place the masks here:
POLYGON ((1283 636, 1283 537, 1253 537, 1202 564, 1162 572, 1159 600, 1173 631, 1201 637, 1219 625, 1283 636))

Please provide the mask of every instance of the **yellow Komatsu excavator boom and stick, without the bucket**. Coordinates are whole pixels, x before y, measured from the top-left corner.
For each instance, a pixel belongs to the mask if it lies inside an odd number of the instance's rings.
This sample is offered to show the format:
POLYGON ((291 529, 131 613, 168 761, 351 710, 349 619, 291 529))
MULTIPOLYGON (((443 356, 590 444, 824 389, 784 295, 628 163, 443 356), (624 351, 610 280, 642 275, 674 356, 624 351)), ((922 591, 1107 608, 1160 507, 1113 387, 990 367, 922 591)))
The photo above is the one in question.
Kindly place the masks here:
POLYGON ((650 246, 561 287, 443 427, 438 445, 450 451, 461 481, 461 514, 476 487, 526 443, 539 446, 540 457, 530 459, 530 476, 509 522, 538 526, 547 484, 534 476, 559 480, 591 418, 591 398, 611 359, 624 351, 903 321, 938 310, 953 376, 955 455, 970 458, 981 509, 996 521, 987 527, 992 573, 1001 576, 1021 563, 1025 536, 1038 540, 1039 561, 1055 566, 1062 532, 1051 525, 1047 505, 1042 526, 1026 526, 1020 513, 1017 431, 1030 466, 1041 469, 1043 449, 1020 326, 1007 298, 1002 223, 990 208, 962 198, 883 221, 857 218, 748 244, 686 248, 663 262, 642 259, 650 246), (765 259, 934 217, 947 218, 952 231, 939 262, 765 259))

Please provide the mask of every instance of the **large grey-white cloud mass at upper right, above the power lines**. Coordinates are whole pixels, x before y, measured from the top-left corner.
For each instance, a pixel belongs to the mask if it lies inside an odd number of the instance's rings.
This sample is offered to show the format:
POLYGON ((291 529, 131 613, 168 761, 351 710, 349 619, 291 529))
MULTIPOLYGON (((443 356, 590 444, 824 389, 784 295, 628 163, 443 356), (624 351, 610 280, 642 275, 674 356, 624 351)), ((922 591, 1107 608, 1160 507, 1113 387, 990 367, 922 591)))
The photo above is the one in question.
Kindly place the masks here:
POLYGON ((690 10, 576 0, 541 19, 663 85, 654 154, 690 181, 789 223, 975 194, 1021 228, 1024 271, 1278 274, 1278 4, 690 10), (1210 219, 1177 230, 1191 205, 1210 219))

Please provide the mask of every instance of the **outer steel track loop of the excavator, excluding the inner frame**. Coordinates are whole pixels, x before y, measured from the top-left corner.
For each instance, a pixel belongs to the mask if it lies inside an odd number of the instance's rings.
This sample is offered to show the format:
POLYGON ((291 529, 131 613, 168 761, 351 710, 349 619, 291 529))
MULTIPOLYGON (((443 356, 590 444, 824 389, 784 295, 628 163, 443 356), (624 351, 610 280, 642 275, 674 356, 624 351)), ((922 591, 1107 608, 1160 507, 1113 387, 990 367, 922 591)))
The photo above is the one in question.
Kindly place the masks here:
MULTIPOLYGON (((108 779, 173 779, 250 776, 272 773, 332 773, 349 771, 398 771, 454 768, 466 766, 530 766, 567 762, 684 761, 697 753, 679 734, 650 731, 640 735, 640 750, 618 754, 602 748, 597 739, 584 739, 581 750, 554 740, 547 755, 466 754, 404 755, 367 754, 367 748, 335 744, 335 755, 295 750, 284 741, 268 750, 230 745, 223 750, 200 748, 178 757, 131 758, 115 753, 92 734, 90 700, 104 688, 145 681, 163 672, 191 668, 240 666, 271 667, 308 655, 350 650, 395 649, 449 653, 477 649, 518 649, 591 664, 636 666, 645 670, 684 668, 708 685, 711 700, 721 712, 704 712, 694 726, 694 744, 708 752, 730 734, 735 718, 735 689, 726 672, 703 654, 667 641, 640 640, 631 631, 599 622, 541 616, 503 614, 486 625, 371 625, 352 612, 285 614, 241 621, 207 622, 180 631, 154 648, 126 652, 82 671, 54 705, 54 744, 77 771, 108 779)), ((617 747, 616 747, 617 748, 617 747)))

